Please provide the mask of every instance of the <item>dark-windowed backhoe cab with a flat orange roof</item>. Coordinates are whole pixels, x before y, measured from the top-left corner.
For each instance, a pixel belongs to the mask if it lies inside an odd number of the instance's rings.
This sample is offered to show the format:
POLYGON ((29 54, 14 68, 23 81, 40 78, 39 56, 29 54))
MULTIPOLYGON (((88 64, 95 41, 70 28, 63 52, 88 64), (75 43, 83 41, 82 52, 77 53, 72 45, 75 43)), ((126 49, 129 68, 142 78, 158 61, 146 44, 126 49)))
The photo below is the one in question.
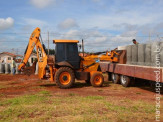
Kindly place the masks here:
POLYGON ((68 63, 73 69, 80 68, 80 56, 78 54, 78 40, 53 40, 55 47, 55 63, 68 63))

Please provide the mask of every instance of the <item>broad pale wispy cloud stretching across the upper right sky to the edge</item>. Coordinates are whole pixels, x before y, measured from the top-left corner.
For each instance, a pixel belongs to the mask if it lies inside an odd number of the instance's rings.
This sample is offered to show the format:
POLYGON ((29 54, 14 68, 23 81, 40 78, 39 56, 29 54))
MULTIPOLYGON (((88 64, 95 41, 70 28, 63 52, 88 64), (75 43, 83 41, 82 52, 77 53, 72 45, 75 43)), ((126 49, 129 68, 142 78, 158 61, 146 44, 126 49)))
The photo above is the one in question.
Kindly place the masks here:
POLYGON ((141 9, 111 9, 107 14, 91 14, 78 21, 81 27, 92 28, 99 27, 109 30, 123 30, 123 27, 115 27, 127 23, 129 25, 143 26, 145 24, 157 24, 162 22, 162 12, 158 11, 154 14, 152 10, 141 9), (117 14, 120 10, 121 13, 117 14), (125 12, 122 12, 125 11, 125 12), (150 12, 149 12, 150 11, 150 12))

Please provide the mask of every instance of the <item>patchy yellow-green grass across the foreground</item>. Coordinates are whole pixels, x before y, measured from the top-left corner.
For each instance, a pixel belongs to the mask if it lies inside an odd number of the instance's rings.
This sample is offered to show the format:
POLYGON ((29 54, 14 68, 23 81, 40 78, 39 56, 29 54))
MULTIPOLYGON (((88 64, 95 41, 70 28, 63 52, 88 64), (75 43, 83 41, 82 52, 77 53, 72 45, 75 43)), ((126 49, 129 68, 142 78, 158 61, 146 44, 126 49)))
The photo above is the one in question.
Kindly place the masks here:
POLYGON ((4 98, 0 121, 147 121, 154 120, 155 106, 140 100, 103 96, 79 96, 40 91, 36 94, 4 98))

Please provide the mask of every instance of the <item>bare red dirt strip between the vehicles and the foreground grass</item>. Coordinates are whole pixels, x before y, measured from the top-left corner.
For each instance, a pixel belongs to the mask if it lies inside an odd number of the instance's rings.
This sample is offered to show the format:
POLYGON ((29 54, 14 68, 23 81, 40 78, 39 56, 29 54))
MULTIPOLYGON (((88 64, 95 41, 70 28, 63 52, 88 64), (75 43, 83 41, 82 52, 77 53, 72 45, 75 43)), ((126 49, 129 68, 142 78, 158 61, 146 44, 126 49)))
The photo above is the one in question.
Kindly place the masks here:
POLYGON ((76 81, 73 88, 60 89, 55 83, 48 80, 40 80, 36 75, 0 75, 0 94, 3 94, 5 98, 31 94, 41 90, 48 90, 54 94, 60 93, 63 95, 74 93, 81 96, 100 95, 112 96, 117 99, 129 98, 132 100, 155 102, 154 90, 144 84, 124 88, 120 84, 105 82, 103 87, 94 88, 84 81, 76 81))

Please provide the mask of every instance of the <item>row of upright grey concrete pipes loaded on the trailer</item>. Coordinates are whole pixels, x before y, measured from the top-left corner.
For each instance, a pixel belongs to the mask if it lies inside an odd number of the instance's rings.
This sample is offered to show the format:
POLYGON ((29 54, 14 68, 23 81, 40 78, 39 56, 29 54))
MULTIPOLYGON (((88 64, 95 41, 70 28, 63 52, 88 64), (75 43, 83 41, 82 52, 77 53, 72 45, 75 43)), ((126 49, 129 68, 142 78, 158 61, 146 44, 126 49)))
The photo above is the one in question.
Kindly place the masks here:
POLYGON ((163 42, 119 46, 118 50, 127 50, 127 64, 156 67, 156 61, 163 67, 163 42))

